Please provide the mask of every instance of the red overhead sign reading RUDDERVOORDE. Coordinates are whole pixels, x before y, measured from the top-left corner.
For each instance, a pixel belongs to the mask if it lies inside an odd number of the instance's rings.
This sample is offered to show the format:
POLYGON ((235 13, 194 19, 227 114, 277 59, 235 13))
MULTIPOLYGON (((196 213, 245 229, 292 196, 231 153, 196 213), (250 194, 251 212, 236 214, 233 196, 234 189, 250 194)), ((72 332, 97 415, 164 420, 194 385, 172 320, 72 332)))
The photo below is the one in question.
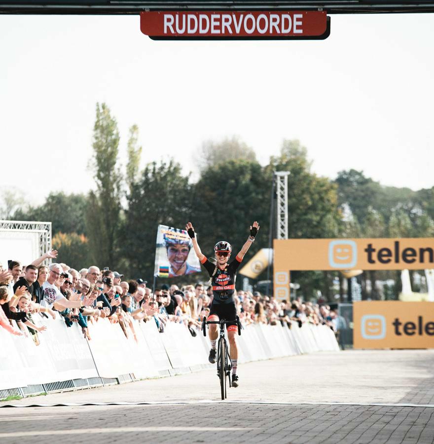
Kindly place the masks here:
POLYGON ((285 38, 325 34, 325 11, 147 11, 140 29, 149 37, 285 38))

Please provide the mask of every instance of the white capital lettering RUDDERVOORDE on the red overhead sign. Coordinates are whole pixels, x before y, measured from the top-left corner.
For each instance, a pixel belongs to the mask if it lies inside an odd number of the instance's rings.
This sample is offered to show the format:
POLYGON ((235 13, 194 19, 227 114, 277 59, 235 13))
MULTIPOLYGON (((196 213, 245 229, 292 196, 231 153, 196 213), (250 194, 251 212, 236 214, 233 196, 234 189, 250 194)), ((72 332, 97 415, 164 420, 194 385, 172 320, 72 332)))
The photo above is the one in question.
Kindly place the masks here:
POLYGON ((164 14, 164 34, 303 34, 303 14, 164 14), (174 26, 175 25, 175 26, 174 26))

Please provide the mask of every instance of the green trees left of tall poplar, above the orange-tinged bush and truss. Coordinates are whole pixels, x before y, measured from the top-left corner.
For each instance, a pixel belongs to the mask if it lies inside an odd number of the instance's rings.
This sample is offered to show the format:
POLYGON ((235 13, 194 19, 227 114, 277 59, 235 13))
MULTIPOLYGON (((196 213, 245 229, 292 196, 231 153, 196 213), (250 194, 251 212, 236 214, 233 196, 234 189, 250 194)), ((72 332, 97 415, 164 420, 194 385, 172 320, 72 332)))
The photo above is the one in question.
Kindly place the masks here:
POLYGON ((42 205, 19 209, 13 218, 16 221, 52 222, 53 235, 59 231, 86 234, 87 203, 83 194, 50 193, 42 205))

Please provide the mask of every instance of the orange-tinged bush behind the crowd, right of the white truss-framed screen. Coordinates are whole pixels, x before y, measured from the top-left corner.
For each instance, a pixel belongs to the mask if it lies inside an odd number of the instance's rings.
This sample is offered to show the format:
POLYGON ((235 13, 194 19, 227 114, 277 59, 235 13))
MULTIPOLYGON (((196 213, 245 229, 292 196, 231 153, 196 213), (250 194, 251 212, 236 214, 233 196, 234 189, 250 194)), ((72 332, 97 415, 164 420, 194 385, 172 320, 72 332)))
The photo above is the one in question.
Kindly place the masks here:
POLYGON ((58 261, 80 270, 92 265, 88 240, 84 234, 58 232, 53 236, 53 248, 59 251, 58 261))

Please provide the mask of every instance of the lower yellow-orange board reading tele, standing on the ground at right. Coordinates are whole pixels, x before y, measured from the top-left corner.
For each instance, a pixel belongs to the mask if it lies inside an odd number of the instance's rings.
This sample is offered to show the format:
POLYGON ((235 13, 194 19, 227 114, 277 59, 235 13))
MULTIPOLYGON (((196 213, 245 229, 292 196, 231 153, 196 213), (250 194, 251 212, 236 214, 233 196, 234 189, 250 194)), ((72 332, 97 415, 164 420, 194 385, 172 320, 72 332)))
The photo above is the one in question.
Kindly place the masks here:
POLYGON ((434 302, 353 304, 354 348, 434 348, 434 302))

